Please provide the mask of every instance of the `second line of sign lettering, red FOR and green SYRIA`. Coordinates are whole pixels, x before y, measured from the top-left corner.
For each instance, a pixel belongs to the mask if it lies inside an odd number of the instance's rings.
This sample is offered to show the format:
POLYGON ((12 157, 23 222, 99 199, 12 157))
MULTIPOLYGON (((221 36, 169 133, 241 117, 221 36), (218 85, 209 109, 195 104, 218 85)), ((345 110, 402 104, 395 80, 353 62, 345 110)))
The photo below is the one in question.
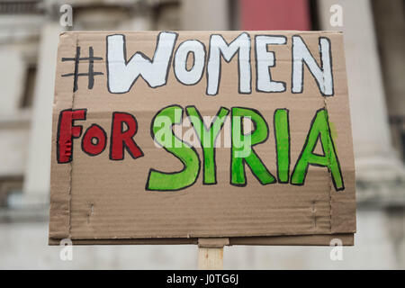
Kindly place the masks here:
MULTIPOLYGON (((217 184, 215 163, 215 140, 227 117, 230 117, 231 157, 230 184, 245 186, 246 166, 248 166, 257 181, 262 184, 291 183, 302 185, 310 165, 323 166, 329 169, 332 182, 337 191, 344 190, 343 177, 329 128, 329 116, 325 109, 318 110, 309 125, 307 138, 302 146, 302 152, 290 170, 291 135, 289 111, 276 109, 273 115, 276 151, 276 175, 272 174, 254 150, 254 146, 268 139, 270 130, 265 118, 255 109, 232 107, 230 110, 220 107, 216 117, 209 127, 205 126, 200 112, 194 106, 185 109, 179 105, 170 105, 155 115, 150 124, 152 139, 162 148, 179 159, 184 168, 178 172, 161 172, 153 168, 149 170, 146 190, 176 191, 193 185, 202 168, 202 183, 217 184), (183 114, 189 118, 195 134, 202 147, 202 163, 196 149, 184 139, 175 136, 173 126, 181 124, 183 114), (252 121, 254 130, 246 134, 243 130, 243 119, 252 121), (247 140, 248 139, 248 140, 247 140), (320 145, 322 154, 315 153, 320 145)), ((73 158, 73 139, 80 138, 83 127, 75 121, 84 121, 85 109, 65 110, 60 112, 57 134, 58 163, 68 163, 73 158)), ((135 142, 138 123, 136 118, 126 112, 112 112, 110 131, 109 157, 112 160, 122 160, 127 151, 130 157, 136 159, 143 156, 141 148, 135 142)), ((87 128, 81 139, 81 148, 89 156, 101 154, 107 146, 107 133, 103 128, 93 123, 87 128)))

